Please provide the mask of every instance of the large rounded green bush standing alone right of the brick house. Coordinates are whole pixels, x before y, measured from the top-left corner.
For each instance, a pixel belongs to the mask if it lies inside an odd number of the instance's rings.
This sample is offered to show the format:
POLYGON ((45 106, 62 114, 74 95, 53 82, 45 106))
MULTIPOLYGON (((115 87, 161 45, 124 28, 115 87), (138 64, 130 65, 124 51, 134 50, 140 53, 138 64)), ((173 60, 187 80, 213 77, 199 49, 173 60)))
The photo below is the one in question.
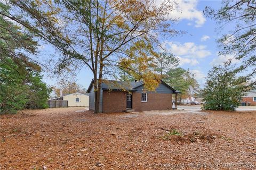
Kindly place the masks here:
POLYGON ((203 109, 234 111, 244 91, 241 79, 236 78, 233 71, 224 66, 215 66, 207 75, 203 109))

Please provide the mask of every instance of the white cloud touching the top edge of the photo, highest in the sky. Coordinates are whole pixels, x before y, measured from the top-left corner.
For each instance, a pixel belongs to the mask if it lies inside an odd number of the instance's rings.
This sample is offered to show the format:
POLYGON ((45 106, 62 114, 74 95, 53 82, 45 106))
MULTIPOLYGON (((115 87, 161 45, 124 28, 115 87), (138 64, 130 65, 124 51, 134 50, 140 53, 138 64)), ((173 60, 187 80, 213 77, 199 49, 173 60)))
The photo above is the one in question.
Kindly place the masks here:
MULTIPOLYGON (((157 0, 157 4, 163 3, 164 0, 157 0)), ((177 20, 189 20, 195 22, 195 27, 202 27, 206 21, 203 11, 197 10, 197 0, 176 0, 174 10, 169 17, 177 20)), ((191 24, 191 23, 190 23, 191 24)))

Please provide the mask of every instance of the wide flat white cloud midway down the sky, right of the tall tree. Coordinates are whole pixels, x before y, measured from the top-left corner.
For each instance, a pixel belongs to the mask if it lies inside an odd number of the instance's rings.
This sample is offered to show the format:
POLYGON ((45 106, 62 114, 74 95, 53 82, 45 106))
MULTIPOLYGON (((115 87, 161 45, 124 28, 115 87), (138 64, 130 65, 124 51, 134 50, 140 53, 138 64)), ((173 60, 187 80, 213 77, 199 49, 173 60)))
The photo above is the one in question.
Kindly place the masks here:
POLYGON ((207 46, 196 45, 195 43, 180 44, 178 42, 165 41, 163 46, 170 53, 186 58, 204 58, 211 55, 211 52, 206 50, 207 46))

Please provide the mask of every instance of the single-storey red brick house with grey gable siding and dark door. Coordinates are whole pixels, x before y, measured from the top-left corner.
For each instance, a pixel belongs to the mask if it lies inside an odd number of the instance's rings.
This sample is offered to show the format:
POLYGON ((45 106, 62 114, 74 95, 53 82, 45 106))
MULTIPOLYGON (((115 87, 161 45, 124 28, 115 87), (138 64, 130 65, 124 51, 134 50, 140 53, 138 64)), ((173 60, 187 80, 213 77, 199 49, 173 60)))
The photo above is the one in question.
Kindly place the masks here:
MULTIPOLYGON (((89 109, 94 111, 94 80, 87 90, 89 109)), ((136 112, 172 109, 172 95, 180 92, 161 80, 155 91, 145 91, 141 81, 103 80, 100 89, 100 112, 117 113, 134 110, 136 112)), ((177 108, 177 103, 175 103, 177 108)))

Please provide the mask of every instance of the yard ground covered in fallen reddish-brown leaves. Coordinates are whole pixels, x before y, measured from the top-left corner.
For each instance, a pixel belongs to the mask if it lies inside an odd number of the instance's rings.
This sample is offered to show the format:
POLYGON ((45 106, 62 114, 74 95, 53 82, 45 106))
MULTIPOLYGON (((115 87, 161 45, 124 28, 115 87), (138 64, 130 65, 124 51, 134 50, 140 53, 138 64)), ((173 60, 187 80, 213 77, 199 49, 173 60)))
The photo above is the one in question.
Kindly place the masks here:
POLYGON ((0 169, 255 169, 256 112, 1 116, 0 169))

